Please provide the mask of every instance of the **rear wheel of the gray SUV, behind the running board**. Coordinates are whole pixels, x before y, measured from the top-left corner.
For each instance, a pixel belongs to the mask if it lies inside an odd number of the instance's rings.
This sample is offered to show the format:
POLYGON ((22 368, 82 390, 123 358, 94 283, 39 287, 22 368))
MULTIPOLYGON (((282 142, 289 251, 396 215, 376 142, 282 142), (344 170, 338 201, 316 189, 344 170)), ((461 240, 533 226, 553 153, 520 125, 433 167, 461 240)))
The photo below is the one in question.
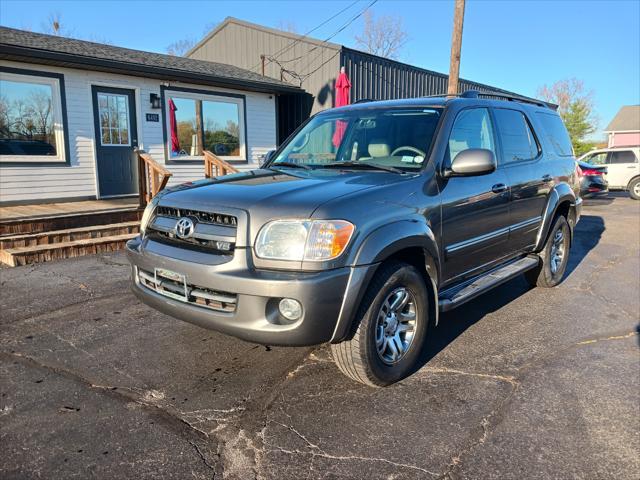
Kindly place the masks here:
POLYGON ((544 248, 539 253, 540 264, 524 274, 529 285, 551 288, 562 281, 569 261, 570 236, 569 223, 561 215, 556 218, 544 248))

